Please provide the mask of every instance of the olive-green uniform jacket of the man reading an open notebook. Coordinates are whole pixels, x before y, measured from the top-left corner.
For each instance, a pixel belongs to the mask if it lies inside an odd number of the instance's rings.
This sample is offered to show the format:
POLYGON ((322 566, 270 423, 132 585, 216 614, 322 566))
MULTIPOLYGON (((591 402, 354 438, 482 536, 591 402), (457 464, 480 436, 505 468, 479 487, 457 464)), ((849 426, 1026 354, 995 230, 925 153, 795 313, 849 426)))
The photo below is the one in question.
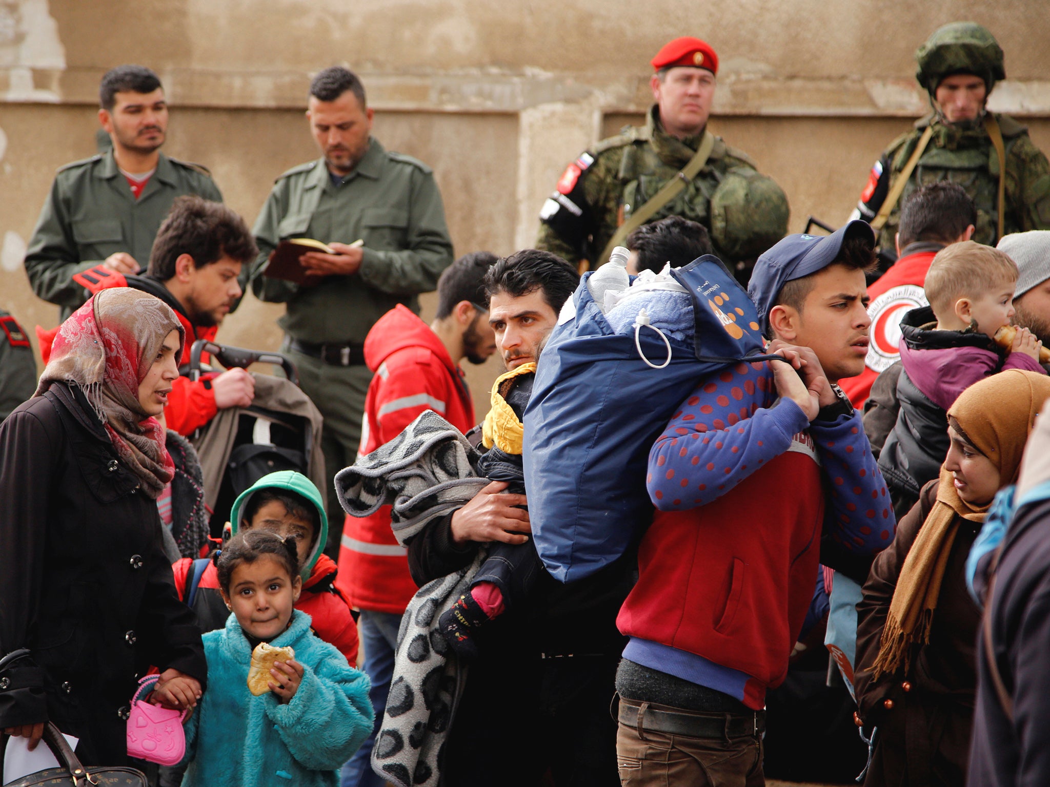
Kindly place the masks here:
POLYGON ((418 294, 437 288, 453 261, 433 171, 412 156, 387 152, 375 139, 338 187, 323 158, 278 177, 254 233, 259 258, 252 292, 266 301, 287 302, 279 324, 303 342, 360 344, 398 303, 418 314, 418 294), (267 277, 270 252, 290 237, 348 244, 361 239, 361 267, 314 286, 267 277))

